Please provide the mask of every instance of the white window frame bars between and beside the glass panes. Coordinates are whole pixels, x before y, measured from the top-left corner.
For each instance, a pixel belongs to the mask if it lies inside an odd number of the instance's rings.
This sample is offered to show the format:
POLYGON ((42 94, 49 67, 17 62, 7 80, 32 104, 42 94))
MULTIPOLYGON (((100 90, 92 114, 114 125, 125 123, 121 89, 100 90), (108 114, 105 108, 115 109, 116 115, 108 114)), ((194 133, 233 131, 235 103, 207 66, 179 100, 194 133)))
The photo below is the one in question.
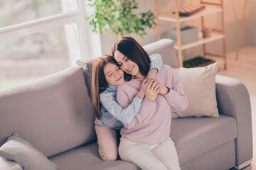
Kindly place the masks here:
POLYGON ((100 35, 92 33, 90 26, 85 22, 85 0, 78 0, 78 10, 67 13, 58 13, 53 16, 38 18, 12 26, 0 28, 0 43, 14 38, 21 38, 46 30, 60 28, 68 23, 78 23, 82 60, 102 55, 100 35), (95 49, 94 47, 97 47, 95 49))

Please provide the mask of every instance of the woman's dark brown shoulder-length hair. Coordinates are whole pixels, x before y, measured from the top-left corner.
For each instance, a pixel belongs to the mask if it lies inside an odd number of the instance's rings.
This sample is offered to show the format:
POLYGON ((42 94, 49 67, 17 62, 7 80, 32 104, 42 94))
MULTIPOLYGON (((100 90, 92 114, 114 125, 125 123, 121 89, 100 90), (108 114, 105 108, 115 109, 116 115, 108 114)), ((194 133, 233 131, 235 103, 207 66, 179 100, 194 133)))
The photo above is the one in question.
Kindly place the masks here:
MULTIPOLYGON (((132 37, 119 38, 112 47, 112 57, 114 52, 119 51, 124 56, 128 57, 129 60, 135 62, 139 66, 139 72, 146 76, 149 72, 150 58, 146 51, 139 43, 132 37)), ((124 72, 124 79, 129 81, 132 79, 132 75, 124 72)))

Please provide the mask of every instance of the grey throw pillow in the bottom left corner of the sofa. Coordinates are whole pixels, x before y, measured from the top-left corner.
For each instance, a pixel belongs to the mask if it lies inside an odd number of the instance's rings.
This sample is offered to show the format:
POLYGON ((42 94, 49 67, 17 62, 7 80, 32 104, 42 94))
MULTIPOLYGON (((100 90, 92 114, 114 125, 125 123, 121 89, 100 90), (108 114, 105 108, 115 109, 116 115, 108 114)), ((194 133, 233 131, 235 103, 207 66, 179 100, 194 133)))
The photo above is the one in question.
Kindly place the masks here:
POLYGON ((56 170, 58 167, 50 162, 43 153, 23 140, 17 132, 0 147, 0 156, 17 162, 24 170, 56 170))

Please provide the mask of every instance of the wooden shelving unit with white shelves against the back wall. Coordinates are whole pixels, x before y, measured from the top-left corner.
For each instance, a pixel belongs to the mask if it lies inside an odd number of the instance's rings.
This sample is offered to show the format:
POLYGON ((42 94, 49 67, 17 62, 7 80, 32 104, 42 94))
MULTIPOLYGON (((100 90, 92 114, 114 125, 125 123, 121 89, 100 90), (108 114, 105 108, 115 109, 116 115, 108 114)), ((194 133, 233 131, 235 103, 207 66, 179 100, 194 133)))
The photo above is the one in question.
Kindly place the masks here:
POLYGON ((161 30, 159 26, 159 21, 170 21, 176 23, 176 30, 177 30, 177 39, 175 49, 178 50, 178 60, 180 63, 180 66, 183 67, 183 57, 182 57, 182 50, 186 50, 191 47, 196 47, 198 45, 203 45, 203 55, 206 57, 206 55, 214 56, 214 57, 222 57, 223 62, 221 64, 224 64, 224 67, 226 69, 226 52, 225 52, 225 27, 224 27, 224 11, 223 11, 223 0, 220 0, 220 3, 211 3, 201 0, 201 4, 207 4, 210 6, 206 6, 206 8, 203 11, 200 11, 198 13, 193 14, 192 16, 179 16, 178 15, 178 0, 175 0, 175 7, 176 7, 176 14, 173 13, 161 13, 159 12, 159 6, 158 6, 158 0, 155 0, 155 6, 156 6, 156 27, 157 27, 157 34, 159 40, 161 39, 161 30), (201 18, 202 23, 202 29, 206 28, 204 26, 204 16, 208 16, 210 14, 215 13, 221 13, 222 17, 222 29, 215 29, 212 28, 212 36, 210 38, 203 38, 202 35, 199 36, 199 40, 196 42, 191 42, 188 44, 181 45, 181 22, 189 21, 194 18, 201 18), (213 42, 215 40, 223 40, 223 55, 213 54, 210 52, 206 52, 206 43, 213 42))

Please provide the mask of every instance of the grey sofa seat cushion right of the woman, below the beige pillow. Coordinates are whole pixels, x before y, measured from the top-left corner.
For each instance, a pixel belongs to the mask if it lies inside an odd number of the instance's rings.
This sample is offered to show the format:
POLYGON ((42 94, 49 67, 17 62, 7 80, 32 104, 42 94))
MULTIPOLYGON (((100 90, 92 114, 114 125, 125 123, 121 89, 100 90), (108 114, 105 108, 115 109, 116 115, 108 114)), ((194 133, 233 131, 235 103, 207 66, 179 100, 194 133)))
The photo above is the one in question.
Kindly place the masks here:
POLYGON ((220 115, 219 118, 177 118, 171 121, 171 139, 175 142, 180 164, 237 136, 235 119, 226 115, 220 115))

